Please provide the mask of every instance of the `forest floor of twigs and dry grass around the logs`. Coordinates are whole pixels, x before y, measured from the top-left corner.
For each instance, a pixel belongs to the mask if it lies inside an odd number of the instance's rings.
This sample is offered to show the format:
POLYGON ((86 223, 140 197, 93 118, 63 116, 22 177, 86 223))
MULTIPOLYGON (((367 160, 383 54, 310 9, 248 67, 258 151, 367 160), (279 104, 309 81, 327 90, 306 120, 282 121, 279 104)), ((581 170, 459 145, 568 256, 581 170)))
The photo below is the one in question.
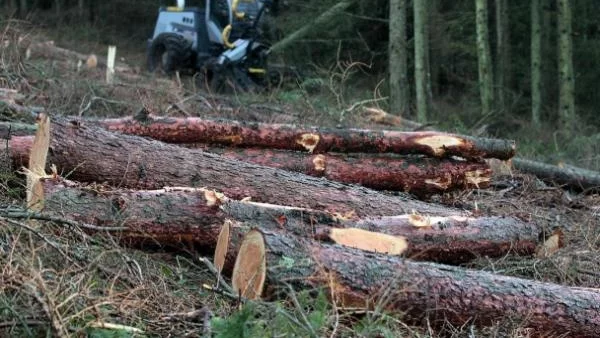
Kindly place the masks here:
MULTIPOLYGON (((0 42, 17 41, 21 34, 7 28, 0 42)), ((89 52, 81 48, 78 51, 89 52)), ((222 96, 198 90, 191 77, 152 76, 140 66, 133 74, 117 73, 115 83, 108 85, 103 70, 78 70, 76 62, 26 60, 22 51, 11 48, 3 48, 0 58, 0 87, 16 89, 24 95, 23 105, 43 107, 51 115, 128 116, 145 108, 163 116, 392 128, 369 120, 360 106, 348 109, 357 101, 340 96, 347 83, 322 87, 320 91, 334 94, 327 102, 322 93, 311 94, 295 84, 260 96, 222 96)), ((129 59, 139 61, 140 55, 129 59)), ((377 102, 368 105, 376 107, 377 102)), ((0 106, 0 120, 32 122, 32 117, 0 106)), ((1 207, 23 204, 23 182, 14 171, 0 173, 1 207)), ((599 287, 600 196, 578 195, 515 172, 495 177, 490 189, 436 196, 434 201, 465 210, 478 208, 490 215, 528 215, 548 233, 560 228, 565 234, 565 246, 550 257, 481 257, 465 267, 599 287)), ((323 297, 312 299, 305 293, 252 303, 240 310, 235 300, 202 287, 215 280, 199 260, 203 254, 191 248, 141 251, 121 247, 109 236, 89 236, 52 222, 40 222, 32 229, 20 221, 0 218, 0 336, 59 332, 77 337, 186 337, 211 331, 219 337, 310 336, 310 330, 290 319, 300 312, 310 318, 319 336, 527 336, 526 328, 514 318, 487 328, 449 324, 432 328, 427 322, 408 323, 398 313, 344 313, 323 297), (299 307, 289 300, 292 296, 299 299, 299 307), (124 326, 101 329, 99 322, 124 326), (144 333, 132 333, 131 328, 144 333)))

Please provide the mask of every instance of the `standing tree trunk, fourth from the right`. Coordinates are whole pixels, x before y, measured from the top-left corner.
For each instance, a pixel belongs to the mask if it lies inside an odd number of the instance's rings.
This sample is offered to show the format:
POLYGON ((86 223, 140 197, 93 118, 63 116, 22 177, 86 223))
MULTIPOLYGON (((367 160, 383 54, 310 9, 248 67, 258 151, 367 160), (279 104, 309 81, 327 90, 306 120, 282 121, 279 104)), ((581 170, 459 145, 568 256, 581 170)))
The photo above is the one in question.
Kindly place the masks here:
POLYGON ((492 59, 488 32, 487 0, 475 0, 477 21, 477 60, 479 63, 479 92, 481 95, 481 112, 488 115, 494 105, 494 78, 492 76, 492 59))

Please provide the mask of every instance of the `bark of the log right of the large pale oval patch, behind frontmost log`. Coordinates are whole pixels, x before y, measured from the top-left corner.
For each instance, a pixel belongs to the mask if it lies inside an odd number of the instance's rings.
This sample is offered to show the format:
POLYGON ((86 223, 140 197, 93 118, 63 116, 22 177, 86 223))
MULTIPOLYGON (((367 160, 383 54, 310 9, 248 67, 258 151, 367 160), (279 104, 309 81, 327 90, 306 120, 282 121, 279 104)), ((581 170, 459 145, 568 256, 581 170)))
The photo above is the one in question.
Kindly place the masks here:
POLYGON ((427 217, 399 215, 346 225, 408 238, 411 259, 459 264, 502 253, 531 255, 542 229, 515 217, 427 217))

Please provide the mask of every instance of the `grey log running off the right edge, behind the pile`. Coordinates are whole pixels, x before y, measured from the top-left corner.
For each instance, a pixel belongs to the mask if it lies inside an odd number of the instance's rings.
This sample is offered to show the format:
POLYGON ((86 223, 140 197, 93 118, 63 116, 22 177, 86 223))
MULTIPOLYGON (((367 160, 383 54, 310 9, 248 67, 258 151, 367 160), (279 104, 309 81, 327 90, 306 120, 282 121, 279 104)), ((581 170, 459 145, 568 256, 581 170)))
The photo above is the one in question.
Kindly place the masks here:
POLYGON ((512 161, 520 172, 537 176, 539 179, 565 185, 579 191, 600 191, 600 172, 574 166, 556 166, 522 158, 512 161))

